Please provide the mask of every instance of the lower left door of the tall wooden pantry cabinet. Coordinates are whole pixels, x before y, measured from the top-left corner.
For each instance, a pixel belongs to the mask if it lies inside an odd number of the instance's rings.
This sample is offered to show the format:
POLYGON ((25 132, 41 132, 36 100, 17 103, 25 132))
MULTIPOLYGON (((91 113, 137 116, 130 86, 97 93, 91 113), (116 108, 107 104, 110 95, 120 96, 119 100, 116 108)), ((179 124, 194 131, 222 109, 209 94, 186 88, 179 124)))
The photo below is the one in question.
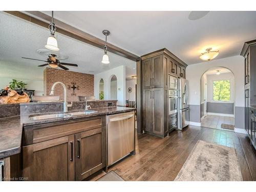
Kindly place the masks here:
POLYGON ((152 89, 143 90, 143 130, 152 132, 152 89))

